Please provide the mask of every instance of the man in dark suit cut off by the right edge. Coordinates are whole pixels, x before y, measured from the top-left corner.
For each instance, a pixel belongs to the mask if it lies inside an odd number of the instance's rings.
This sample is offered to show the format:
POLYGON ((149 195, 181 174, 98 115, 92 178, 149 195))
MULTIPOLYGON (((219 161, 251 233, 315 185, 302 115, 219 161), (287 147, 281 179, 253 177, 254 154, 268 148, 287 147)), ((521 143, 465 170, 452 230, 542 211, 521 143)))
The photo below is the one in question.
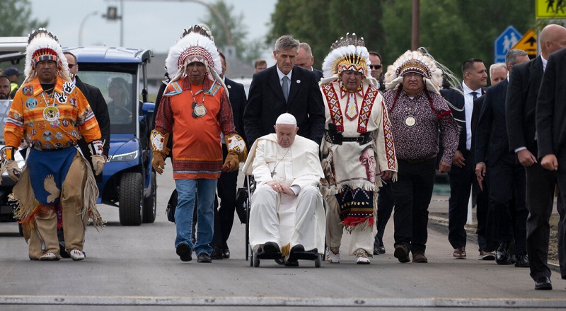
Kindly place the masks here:
MULTIPOLYGON (((557 172, 557 182, 562 201, 566 194, 566 49, 548 57, 541 90, 536 103, 536 129, 538 134, 538 158, 543 168, 557 172)), ((560 274, 566 279, 566 209, 558 206, 558 261, 560 274)))

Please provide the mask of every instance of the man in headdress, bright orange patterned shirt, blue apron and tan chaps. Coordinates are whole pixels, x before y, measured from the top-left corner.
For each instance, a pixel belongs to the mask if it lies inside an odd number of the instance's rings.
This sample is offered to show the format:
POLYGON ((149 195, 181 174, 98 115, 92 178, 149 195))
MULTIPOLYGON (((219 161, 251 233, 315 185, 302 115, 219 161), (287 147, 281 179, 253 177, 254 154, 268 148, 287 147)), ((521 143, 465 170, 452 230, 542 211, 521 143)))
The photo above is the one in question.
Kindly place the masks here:
POLYGON ((71 82, 67 58, 57 37, 40 28, 30 34, 25 49, 25 81, 13 99, 1 159, 19 201, 16 218, 23 226, 33 260, 59 260, 57 228, 64 229, 65 252, 84 259, 86 224, 103 226, 96 209, 98 188, 91 165, 77 150, 84 138, 96 175, 102 172, 103 142, 91 107, 71 82), (22 172, 14 153, 25 140, 30 145, 22 172))

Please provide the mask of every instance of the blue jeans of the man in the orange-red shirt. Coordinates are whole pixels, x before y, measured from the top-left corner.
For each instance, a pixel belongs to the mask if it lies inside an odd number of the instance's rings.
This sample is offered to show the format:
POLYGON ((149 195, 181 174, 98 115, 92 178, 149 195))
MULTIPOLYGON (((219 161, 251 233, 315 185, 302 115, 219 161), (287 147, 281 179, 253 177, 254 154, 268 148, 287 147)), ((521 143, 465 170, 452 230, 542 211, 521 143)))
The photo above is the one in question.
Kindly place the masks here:
POLYGON ((178 192, 177 209, 175 209, 175 226, 177 237, 175 248, 180 243, 189 245, 198 254, 212 253, 210 242, 214 233, 214 196, 218 180, 175 180, 178 192), (195 197, 198 196, 197 206, 197 244, 192 244, 192 213, 195 208, 195 197))

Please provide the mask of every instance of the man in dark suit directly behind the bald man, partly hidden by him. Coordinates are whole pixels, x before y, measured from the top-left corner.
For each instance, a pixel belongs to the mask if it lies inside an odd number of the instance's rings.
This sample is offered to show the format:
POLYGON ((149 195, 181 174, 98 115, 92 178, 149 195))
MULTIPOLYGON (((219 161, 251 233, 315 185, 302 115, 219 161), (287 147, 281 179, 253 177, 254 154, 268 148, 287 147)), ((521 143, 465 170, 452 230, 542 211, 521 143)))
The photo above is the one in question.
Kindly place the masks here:
MULTIPOLYGON (((529 55, 520 49, 510 49, 505 55, 509 71, 513 66, 529 61, 529 55)), ((475 175, 482 187, 486 173, 490 174, 489 197, 495 212, 498 237, 495 262, 511 264, 509 248, 514 242, 515 266, 529 267, 526 256, 525 170, 513 151, 505 125, 505 98, 507 78, 487 88, 478 127, 475 130, 475 175), (489 161, 488 161, 489 160, 489 161)))

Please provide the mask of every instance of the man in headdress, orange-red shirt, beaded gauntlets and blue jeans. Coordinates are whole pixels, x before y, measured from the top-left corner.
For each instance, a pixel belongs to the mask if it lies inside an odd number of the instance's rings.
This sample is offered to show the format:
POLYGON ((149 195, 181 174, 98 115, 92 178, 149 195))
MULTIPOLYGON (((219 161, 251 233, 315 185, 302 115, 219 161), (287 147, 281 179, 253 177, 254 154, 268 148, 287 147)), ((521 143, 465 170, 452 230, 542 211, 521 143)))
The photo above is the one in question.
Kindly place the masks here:
POLYGON ((169 49, 166 68, 171 81, 161 98, 151 148, 156 172, 163 173, 173 140, 173 178, 178 192, 175 209, 175 248, 183 262, 212 262, 216 183, 223 171, 238 170, 246 157, 246 143, 236 133, 228 90, 219 76, 221 61, 207 31, 200 25, 185 30, 169 49), (224 134, 228 155, 222 164, 220 134, 224 134), (238 159, 239 157, 239 159, 238 159), (197 199, 197 239, 192 243, 192 213, 197 199))

